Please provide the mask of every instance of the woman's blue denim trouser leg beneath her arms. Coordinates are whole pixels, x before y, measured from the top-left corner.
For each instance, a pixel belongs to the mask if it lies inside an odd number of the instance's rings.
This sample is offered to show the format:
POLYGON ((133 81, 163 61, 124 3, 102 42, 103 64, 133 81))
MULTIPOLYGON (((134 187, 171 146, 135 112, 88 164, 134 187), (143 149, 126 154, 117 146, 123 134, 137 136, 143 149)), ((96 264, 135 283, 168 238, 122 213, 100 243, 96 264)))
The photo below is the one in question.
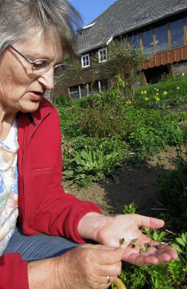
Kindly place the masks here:
POLYGON ((43 233, 28 236, 17 226, 3 254, 20 253, 22 260, 34 261, 60 256, 76 246, 79 244, 63 237, 43 233))

